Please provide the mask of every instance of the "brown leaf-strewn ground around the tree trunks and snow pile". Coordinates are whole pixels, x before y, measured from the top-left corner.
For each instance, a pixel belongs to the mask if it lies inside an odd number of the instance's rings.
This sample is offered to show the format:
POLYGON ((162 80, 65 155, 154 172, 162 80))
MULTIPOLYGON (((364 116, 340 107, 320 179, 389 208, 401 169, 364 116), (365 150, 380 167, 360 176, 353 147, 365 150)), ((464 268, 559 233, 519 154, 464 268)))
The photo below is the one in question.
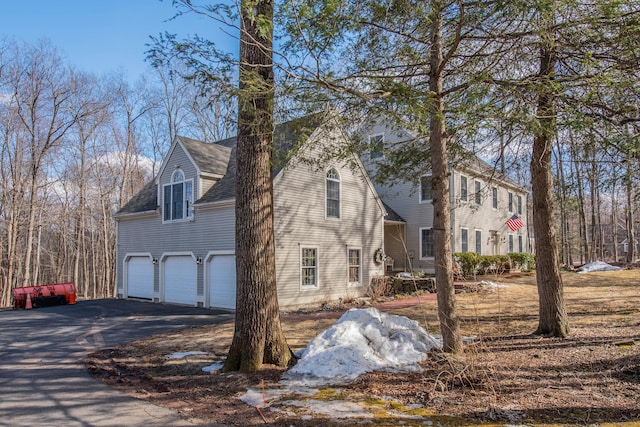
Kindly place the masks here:
MULTIPOLYGON (((463 355, 432 354, 421 374, 367 374, 349 386, 300 398, 355 402, 372 419, 341 420, 304 407, 258 410, 240 401, 249 388, 279 388, 283 371, 267 366, 251 375, 203 372, 202 367, 224 359, 232 323, 105 349, 90 355, 87 366, 115 388, 208 425, 424 425, 425 420, 440 425, 592 425, 640 420, 640 270, 563 274, 572 326, 567 339, 529 335, 537 326, 533 275, 483 279, 506 287, 457 295, 463 332, 476 337, 463 355), (188 350, 209 354, 166 357, 188 350)), ((291 347, 303 348, 347 308, 283 313, 291 347)), ((439 332, 433 295, 378 308, 439 332)))

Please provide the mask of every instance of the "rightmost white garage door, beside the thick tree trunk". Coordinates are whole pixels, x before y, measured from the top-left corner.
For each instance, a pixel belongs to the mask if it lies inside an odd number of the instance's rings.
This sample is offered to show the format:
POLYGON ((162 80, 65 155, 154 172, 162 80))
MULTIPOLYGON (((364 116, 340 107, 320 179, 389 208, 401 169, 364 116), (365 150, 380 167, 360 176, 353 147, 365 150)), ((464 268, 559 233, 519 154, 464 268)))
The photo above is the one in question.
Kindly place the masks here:
POLYGON ((209 306, 236 308, 236 257, 214 255, 209 262, 209 306))

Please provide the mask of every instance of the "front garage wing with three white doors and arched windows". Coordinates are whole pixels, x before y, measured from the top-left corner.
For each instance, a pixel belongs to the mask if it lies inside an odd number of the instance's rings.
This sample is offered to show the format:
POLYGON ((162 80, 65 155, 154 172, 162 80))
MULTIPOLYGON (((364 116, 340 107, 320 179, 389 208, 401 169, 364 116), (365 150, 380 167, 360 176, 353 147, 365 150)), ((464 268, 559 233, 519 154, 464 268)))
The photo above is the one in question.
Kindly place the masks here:
MULTIPOLYGON (((359 159, 313 162, 344 138, 320 116, 276 127, 275 157, 286 159, 273 169, 282 307, 361 295, 383 272, 373 254, 386 212, 359 159)), ((119 297, 235 308, 235 146, 177 137, 117 213, 119 297)))

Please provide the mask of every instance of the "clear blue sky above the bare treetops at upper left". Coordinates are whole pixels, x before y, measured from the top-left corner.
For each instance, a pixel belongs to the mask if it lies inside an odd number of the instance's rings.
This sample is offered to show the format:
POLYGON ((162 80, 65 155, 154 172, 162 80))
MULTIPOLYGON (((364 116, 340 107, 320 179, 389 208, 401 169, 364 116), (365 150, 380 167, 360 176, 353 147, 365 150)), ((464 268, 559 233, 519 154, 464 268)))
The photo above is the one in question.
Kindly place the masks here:
POLYGON ((170 20, 175 12, 171 0, 0 0, 0 38, 49 39, 77 68, 98 75, 121 69, 132 82, 147 67, 149 36, 164 31, 224 39, 236 49, 220 24, 195 14, 170 20))

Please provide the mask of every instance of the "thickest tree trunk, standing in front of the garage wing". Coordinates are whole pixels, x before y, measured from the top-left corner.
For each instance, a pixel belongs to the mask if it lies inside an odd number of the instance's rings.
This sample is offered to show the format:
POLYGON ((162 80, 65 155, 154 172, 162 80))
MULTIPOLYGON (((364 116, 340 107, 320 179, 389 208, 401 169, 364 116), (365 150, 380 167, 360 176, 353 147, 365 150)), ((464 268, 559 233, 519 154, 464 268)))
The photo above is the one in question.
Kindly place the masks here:
POLYGON ((236 322, 223 370, 294 360, 280 325, 273 232, 273 1, 241 3, 236 177, 236 322), (268 27, 268 28, 267 28, 268 27))

